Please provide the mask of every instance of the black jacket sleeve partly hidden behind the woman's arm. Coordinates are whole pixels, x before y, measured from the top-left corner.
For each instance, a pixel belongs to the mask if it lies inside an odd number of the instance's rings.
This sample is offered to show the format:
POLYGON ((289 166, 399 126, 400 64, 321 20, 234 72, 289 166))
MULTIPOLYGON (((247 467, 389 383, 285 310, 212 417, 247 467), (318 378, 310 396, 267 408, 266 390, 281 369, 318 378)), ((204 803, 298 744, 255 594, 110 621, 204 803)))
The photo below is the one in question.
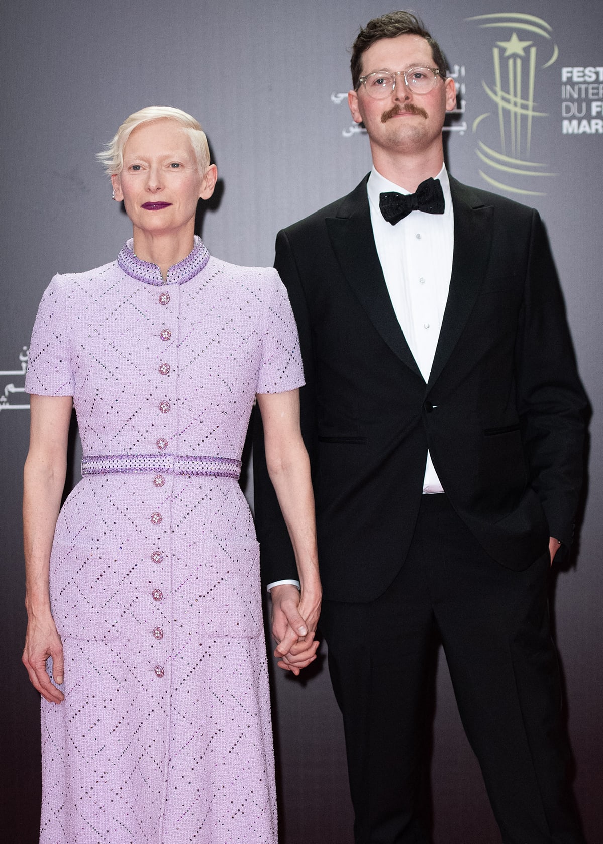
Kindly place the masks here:
MULTIPOLYGON (((278 270, 289 294, 300 338, 306 379, 306 386, 300 390, 302 435, 312 462, 315 425, 313 420, 314 372, 311 330, 306 300, 302 290, 301 275, 285 231, 280 231, 276 238, 274 267, 278 270)), ((291 539, 266 468, 262 419, 258 408, 255 408, 253 419, 253 500, 256 529, 260 543, 263 584, 266 585, 280 580, 297 580, 296 561, 291 539)))

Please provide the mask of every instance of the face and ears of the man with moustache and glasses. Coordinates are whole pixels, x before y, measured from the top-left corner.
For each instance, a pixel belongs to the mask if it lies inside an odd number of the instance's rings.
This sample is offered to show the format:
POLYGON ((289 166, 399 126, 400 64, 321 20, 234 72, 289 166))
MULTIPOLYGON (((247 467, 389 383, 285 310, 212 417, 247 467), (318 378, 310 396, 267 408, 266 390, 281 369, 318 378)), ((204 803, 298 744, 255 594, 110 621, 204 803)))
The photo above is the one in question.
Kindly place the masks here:
MULTIPOLYGON (((421 35, 398 35, 376 41, 362 54, 362 76, 380 70, 433 68, 432 48, 421 35)), ((402 75, 384 100, 374 100, 363 84, 348 95, 356 123, 367 127, 372 147, 390 153, 421 154, 442 143, 442 127, 447 111, 456 106, 453 79, 437 78, 427 94, 410 91, 402 75)))

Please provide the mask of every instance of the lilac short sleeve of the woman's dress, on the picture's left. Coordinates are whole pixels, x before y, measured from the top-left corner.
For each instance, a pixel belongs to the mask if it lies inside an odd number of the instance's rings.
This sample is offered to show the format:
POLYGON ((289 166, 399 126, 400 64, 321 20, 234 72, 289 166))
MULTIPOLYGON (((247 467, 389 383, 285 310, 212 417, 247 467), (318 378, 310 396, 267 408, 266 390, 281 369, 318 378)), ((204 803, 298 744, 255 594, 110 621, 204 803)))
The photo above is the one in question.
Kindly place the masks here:
POLYGON ((35 396, 73 396, 69 329, 64 277, 46 288, 31 334, 25 392, 35 396))

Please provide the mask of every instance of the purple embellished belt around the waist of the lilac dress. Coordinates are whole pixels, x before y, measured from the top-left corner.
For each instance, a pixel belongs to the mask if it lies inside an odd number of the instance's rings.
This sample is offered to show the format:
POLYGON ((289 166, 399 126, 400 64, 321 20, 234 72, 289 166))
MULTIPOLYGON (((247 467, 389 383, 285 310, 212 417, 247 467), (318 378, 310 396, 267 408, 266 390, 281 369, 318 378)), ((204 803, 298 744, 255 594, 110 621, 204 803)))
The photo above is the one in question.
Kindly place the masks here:
POLYGON ((189 457, 179 454, 109 454, 84 457, 82 474, 166 472, 179 475, 208 475, 239 479, 241 461, 234 457, 189 457))

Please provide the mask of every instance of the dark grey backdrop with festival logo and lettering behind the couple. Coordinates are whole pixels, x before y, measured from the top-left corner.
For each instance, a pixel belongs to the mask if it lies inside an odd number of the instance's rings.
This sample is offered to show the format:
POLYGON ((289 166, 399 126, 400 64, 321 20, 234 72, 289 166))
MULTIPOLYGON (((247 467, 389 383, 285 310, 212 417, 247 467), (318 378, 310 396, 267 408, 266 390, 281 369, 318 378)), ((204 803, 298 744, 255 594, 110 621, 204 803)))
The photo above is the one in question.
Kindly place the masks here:
MULTIPOLYGON (((141 106, 192 112, 206 128, 222 180, 220 202, 204 218, 204 241, 232 262, 270 264, 277 230, 348 192, 369 169, 366 134, 352 131, 340 95, 349 88, 349 46, 358 27, 391 6, 368 0, 23 0, 3 12, 5 840, 37 840, 40 800, 38 697, 19 663, 25 623, 21 471, 29 425, 24 347, 52 274, 110 261, 129 235, 128 219, 111 203, 94 154, 141 106)), ((575 790, 588 840, 596 844, 603 841, 598 372, 603 7, 600 0, 574 0, 570 7, 562 0, 530 0, 527 7, 499 0, 423 0, 417 11, 441 41, 459 86, 459 111, 446 129, 449 169, 462 181, 498 186, 493 189, 541 210, 593 405, 578 549, 571 565, 554 577, 551 595, 575 790), (502 14, 509 6, 517 12, 502 14)), ((77 462, 74 441, 73 465, 77 462)), ((247 495, 253 500, 249 484, 247 495)), ((342 731, 322 653, 305 679, 274 676, 284 844, 351 841, 342 731)), ((494 844, 500 838, 442 655, 436 685, 434 839, 494 844)))

